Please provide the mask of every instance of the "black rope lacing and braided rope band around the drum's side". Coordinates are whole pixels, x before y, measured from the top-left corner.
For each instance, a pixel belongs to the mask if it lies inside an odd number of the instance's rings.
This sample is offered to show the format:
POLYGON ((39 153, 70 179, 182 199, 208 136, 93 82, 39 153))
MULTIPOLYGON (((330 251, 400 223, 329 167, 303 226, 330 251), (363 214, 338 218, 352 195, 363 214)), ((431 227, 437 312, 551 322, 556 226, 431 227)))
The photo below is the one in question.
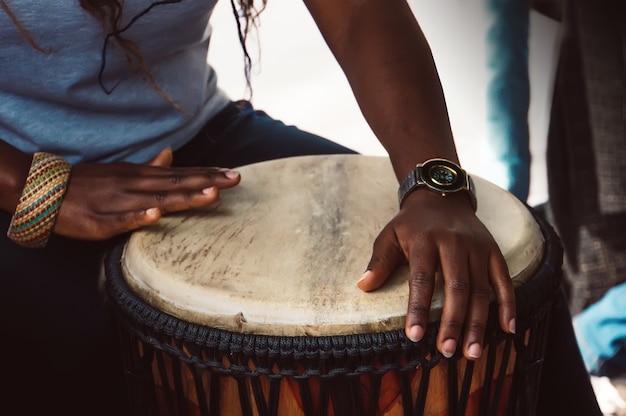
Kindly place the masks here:
MULTIPOLYGON (((544 224, 544 227, 547 226, 544 224)), ((500 330, 497 305, 491 305, 489 314, 486 371, 496 370, 496 345, 504 345, 504 354, 507 357, 506 351, 514 349, 516 352, 515 375, 510 389, 507 414, 530 414, 532 412, 528 406, 536 402, 536 397, 533 397, 536 393, 525 387, 540 375, 542 362, 537 357, 541 356, 539 353, 542 351, 544 339, 533 336, 535 332, 530 332, 530 337, 525 337, 525 334, 529 329, 547 325, 552 306, 550 300, 556 298, 555 293, 560 286, 561 278, 558 276, 557 279, 542 279, 544 275, 552 276, 555 270, 560 269, 562 259, 562 247, 554 244, 555 234, 546 232, 545 236, 548 240, 546 245, 548 250, 544 253, 544 266, 537 271, 532 281, 516 289, 518 335, 505 334, 500 330)), ((128 290, 121 276, 119 263, 115 264, 116 267, 111 267, 113 261, 111 259, 120 258, 121 250, 122 247, 117 247, 107 260, 107 290, 109 299, 115 302, 112 309, 120 327, 130 337, 125 340, 127 345, 136 347, 138 342, 142 342, 152 347, 152 349, 143 348, 143 355, 137 351, 126 352, 128 360, 134 363, 128 370, 130 380, 141 380, 138 384, 145 387, 146 380, 153 380, 157 376, 153 374, 151 368, 153 360, 163 360, 165 354, 176 363, 173 366, 174 370, 180 371, 183 366, 191 370, 195 377, 194 382, 198 383, 196 387, 198 391, 206 388, 201 385, 201 381, 202 373, 207 371, 232 376, 241 386, 245 384, 245 379, 249 379, 257 401, 257 412, 269 416, 276 414, 278 385, 282 379, 288 377, 298 384, 302 400, 307 402, 303 403, 308 409, 305 414, 317 415, 314 408, 323 408, 329 403, 340 406, 337 404, 340 400, 333 396, 337 391, 341 391, 338 387, 341 383, 337 383, 337 380, 366 375, 371 382, 370 392, 376 394, 381 388, 382 377, 395 372, 403 380, 402 402, 406 414, 423 414, 429 374, 435 366, 445 360, 435 349, 438 325, 429 325, 424 339, 418 343, 409 341, 403 330, 343 336, 283 337, 240 334, 208 328, 158 311, 128 290), (419 390, 415 393, 417 399, 414 400, 414 393, 408 386, 411 372, 416 368, 421 369, 422 379, 419 390), (260 377, 267 377, 272 386, 267 400, 259 384, 260 377), (311 379, 316 379, 320 383, 321 404, 318 406, 310 403, 311 392, 307 386, 311 379)), ((448 360, 449 391, 452 391, 448 397, 448 407, 452 414, 465 412, 471 374, 474 371, 471 361, 467 362, 464 368, 457 368, 456 361, 459 358, 460 351, 457 351, 457 354, 448 360), (459 376, 462 377, 460 385, 457 383, 459 376)), ((500 371, 495 380, 486 381, 482 394, 489 398, 495 396, 496 399, 481 400, 479 414, 497 414, 499 411, 500 403, 497 398, 503 388, 505 378, 503 369, 507 364, 506 361, 499 363, 500 371)), ((159 364, 158 367, 162 368, 162 365, 159 364)), ((159 371, 166 373, 162 369, 159 371)), ((171 387, 168 385, 165 388, 174 389, 178 396, 182 396, 180 380, 178 377, 173 378, 174 383, 179 384, 171 387)), ((203 414, 218 414, 219 395, 214 391, 218 388, 217 379, 218 377, 211 377, 212 399, 210 403, 201 404, 203 414)), ((361 393, 353 390, 343 392, 347 396, 347 402, 352 403, 350 406, 357 406, 359 412, 363 412, 359 415, 375 414, 373 399, 365 403, 361 393)), ((183 403, 185 398, 168 400, 167 407, 175 410, 171 414, 180 414, 178 407, 185 406, 183 403)), ((198 401, 203 400, 206 398, 198 397, 198 401)), ((245 400, 249 402, 248 398, 245 400)), ((242 398, 242 401, 245 400, 242 398)), ((251 406, 250 403, 243 403, 242 406, 247 409, 244 414, 248 414, 248 411, 252 414, 247 408, 251 406)))

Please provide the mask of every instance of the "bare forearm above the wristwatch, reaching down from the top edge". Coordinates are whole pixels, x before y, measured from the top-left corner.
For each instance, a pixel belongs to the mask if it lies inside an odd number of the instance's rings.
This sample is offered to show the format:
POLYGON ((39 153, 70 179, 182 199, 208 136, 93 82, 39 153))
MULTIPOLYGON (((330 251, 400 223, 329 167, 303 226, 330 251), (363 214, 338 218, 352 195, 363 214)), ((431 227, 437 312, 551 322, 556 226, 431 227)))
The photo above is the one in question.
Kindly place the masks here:
POLYGON ((403 0, 306 0, 397 177, 458 162, 430 47, 403 0))

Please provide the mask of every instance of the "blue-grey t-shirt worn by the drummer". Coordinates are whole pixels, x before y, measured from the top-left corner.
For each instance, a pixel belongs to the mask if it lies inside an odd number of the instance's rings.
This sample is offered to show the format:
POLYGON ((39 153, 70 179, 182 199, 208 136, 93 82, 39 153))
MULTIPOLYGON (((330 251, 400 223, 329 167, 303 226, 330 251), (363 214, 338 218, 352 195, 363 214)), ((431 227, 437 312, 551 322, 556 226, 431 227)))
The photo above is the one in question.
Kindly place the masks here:
MULTIPOLYGON (((46 151, 70 163, 145 162, 167 146, 192 138, 228 98, 207 64, 216 0, 153 7, 124 36, 140 48, 159 87, 184 111, 159 96, 141 71, 130 70, 110 41, 102 80, 105 31, 74 1, 13 0, 9 7, 45 50, 30 45, 0 10, 0 140, 26 153, 46 151)), ((123 27, 151 0, 126 0, 123 27)))

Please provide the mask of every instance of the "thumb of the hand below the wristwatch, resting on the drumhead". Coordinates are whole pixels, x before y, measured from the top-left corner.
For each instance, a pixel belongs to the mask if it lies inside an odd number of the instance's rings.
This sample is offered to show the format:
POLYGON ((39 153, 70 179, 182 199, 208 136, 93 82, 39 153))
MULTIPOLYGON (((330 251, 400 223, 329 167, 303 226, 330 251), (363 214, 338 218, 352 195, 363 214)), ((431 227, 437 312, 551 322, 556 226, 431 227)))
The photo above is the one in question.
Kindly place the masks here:
POLYGON ((357 287, 365 292, 378 289, 402 262, 405 262, 404 254, 397 243, 395 233, 391 227, 385 227, 374 240, 372 257, 367 270, 357 282, 357 287))

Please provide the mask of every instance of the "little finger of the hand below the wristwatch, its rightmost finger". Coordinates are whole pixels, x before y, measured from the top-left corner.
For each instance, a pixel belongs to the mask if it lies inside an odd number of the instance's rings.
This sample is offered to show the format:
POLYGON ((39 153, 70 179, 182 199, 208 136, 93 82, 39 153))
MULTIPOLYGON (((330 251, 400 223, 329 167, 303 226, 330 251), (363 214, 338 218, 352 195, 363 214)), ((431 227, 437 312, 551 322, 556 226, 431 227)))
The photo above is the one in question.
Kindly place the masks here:
POLYGON ((504 332, 515 334, 515 291, 509 268, 499 251, 489 258, 489 278, 498 302, 500 327, 504 332))

